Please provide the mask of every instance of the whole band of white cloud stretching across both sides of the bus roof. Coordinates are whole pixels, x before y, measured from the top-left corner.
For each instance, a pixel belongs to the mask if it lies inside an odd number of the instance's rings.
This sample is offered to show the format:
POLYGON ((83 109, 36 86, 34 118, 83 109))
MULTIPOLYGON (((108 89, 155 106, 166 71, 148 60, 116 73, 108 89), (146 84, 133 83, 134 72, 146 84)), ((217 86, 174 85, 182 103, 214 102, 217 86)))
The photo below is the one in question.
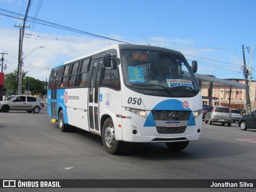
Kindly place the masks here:
MULTIPOLYGON (((10 73, 18 68, 18 46, 19 46, 19 28, 3 28, 0 26, 0 52, 8 53, 4 55, 4 64, 7 66, 7 70, 4 73, 10 73)), ((110 35, 110 38, 123 40, 125 37, 118 35, 110 35)), ((126 42, 126 40, 123 40, 126 42)), ((149 37, 146 41, 151 46, 166 47, 174 50, 178 50, 185 55, 188 62, 191 64, 192 60, 198 60, 198 72, 206 70, 223 71, 222 64, 218 62, 209 62, 202 58, 212 58, 216 60, 222 60, 219 55, 219 51, 216 50, 202 50, 193 48, 196 41, 192 39, 181 38, 164 38, 164 37, 149 37), (201 58, 192 58, 190 56, 197 56, 201 58), (212 64, 213 63, 213 64, 212 64), (214 65, 218 64, 218 65, 214 65), (215 66, 215 67, 214 67, 215 66)), ((133 39, 128 42, 134 44, 148 45, 144 39, 133 39)), ((23 51, 24 51, 24 66, 22 70, 28 71, 27 76, 46 80, 50 76, 50 71, 53 66, 66 62, 76 57, 80 57, 101 48, 107 47, 110 44, 117 44, 114 42, 101 38, 93 38, 91 36, 76 35, 58 35, 58 34, 46 34, 33 32, 32 35, 25 35, 23 51), (45 46, 44 48, 39 48, 45 46)), ((226 52, 224 52, 225 54, 226 52)), ((0 55, 2 56, 2 55, 0 55)), ((223 56, 223 60, 224 56, 223 56)), ((228 68, 231 69, 230 65, 228 68)), ((223 73, 223 72, 222 72, 223 73)))

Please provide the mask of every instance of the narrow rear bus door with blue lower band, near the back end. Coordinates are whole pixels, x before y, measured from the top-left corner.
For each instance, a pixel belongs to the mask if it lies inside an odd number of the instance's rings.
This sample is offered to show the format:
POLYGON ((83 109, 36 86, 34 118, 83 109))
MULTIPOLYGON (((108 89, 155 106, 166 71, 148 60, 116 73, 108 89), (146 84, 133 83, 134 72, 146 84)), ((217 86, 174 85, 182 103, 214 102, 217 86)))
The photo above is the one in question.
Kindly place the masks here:
POLYGON ((57 112, 57 90, 58 90, 58 78, 60 70, 54 71, 52 80, 52 95, 51 95, 51 108, 52 108, 52 118, 58 118, 57 112))

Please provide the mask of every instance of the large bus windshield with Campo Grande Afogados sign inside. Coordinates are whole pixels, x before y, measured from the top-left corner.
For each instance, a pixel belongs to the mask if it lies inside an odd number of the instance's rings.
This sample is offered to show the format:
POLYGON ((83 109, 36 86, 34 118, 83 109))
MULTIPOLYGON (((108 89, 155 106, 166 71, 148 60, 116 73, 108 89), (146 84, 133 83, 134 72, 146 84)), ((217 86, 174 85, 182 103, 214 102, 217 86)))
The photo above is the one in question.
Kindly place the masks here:
MULTIPOLYGON (((121 59, 124 82, 129 87, 168 90, 170 93, 186 90, 192 92, 192 95, 200 91, 196 78, 182 54, 129 49, 121 50, 121 59)), ((184 94, 187 94, 186 92, 184 94)))

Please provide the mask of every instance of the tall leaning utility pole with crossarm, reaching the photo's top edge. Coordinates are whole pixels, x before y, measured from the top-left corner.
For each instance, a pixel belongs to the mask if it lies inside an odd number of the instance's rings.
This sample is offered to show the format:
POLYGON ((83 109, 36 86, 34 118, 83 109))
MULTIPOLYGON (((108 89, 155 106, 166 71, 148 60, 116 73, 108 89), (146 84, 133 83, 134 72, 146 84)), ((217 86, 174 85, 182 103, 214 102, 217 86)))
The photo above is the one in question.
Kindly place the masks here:
POLYGON ((21 28, 21 31, 20 31, 20 47, 19 47, 19 61, 18 61, 18 95, 21 95, 21 92, 22 92, 22 60, 23 60, 23 58, 22 58, 22 56, 23 56, 22 44, 23 44, 23 37, 24 37, 24 28, 30 28, 30 26, 29 27, 25 26, 26 18, 28 16, 28 10, 29 10, 29 7, 30 7, 30 2, 31 2, 31 0, 28 1, 28 7, 27 7, 26 14, 25 14, 25 17, 24 17, 23 26, 15 26, 15 27, 20 27, 21 28))

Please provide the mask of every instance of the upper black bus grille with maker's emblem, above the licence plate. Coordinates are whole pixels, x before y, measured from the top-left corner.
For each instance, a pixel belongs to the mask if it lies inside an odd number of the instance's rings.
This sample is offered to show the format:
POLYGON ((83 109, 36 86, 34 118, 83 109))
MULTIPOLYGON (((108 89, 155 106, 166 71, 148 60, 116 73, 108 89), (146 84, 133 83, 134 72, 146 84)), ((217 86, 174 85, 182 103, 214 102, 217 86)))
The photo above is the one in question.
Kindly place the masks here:
POLYGON ((188 121, 190 111, 152 110, 152 114, 155 121, 188 121), (170 117, 171 114, 175 114, 175 117, 170 117))

